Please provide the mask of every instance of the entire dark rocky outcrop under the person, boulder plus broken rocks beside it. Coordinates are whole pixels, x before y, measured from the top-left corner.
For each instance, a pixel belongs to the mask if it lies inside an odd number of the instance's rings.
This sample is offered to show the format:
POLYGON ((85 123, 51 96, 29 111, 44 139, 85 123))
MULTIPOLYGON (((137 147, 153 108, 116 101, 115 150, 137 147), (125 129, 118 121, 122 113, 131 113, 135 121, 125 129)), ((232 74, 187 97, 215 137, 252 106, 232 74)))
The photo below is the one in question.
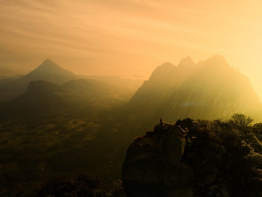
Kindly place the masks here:
POLYGON ((230 197, 239 178, 234 163, 223 146, 158 124, 129 146, 123 187, 127 197, 230 197))

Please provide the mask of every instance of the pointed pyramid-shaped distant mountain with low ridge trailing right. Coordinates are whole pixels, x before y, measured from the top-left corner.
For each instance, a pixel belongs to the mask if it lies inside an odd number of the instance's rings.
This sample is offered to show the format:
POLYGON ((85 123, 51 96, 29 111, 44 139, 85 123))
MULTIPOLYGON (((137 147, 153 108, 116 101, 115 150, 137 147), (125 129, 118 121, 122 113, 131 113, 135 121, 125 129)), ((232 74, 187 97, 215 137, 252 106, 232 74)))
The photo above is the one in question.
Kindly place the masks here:
POLYGON ((123 79, 120 77, 76 75, 69 70, 63 69, 50 59, 46 59, 41 65, 25 76, 0 79, 0 102, 12 100, 18 95, 25 93, 31 81, 41 80, 62 85, 70 80, 80 78, 95 79, 121 86, 125 89, 128 88, 133 90, 133 92, 143 83, 142 80, 123 79))

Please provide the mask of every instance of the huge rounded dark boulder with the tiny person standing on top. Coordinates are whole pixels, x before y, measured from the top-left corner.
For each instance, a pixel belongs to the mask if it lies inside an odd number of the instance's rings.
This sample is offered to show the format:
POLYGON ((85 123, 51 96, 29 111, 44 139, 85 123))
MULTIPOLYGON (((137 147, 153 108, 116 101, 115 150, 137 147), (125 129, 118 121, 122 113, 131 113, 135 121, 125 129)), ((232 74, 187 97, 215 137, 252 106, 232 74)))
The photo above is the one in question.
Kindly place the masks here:
POLYGON ((122 167, 123 187, 128 197, 193 195, 194 170, 181 163, 185 136, 178 126, 159 124, 150 135, 129 146, 122 167))

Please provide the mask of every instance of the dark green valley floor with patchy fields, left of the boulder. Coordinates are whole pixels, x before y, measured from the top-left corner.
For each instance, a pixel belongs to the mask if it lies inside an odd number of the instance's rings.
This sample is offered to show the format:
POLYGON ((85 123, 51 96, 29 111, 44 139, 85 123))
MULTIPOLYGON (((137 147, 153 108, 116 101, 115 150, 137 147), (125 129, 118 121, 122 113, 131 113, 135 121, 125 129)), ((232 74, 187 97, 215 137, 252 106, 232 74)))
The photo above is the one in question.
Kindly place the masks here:
POLYGON ((114 110, 111 117, 108 107, 101 105, 93 113, 83 107, 55 118, 1 123, 0 196, 39 187, 57 174, 74 177, 84 172, 105 185, 121 179, 132 137, 113 129, 121 120, 114 110))

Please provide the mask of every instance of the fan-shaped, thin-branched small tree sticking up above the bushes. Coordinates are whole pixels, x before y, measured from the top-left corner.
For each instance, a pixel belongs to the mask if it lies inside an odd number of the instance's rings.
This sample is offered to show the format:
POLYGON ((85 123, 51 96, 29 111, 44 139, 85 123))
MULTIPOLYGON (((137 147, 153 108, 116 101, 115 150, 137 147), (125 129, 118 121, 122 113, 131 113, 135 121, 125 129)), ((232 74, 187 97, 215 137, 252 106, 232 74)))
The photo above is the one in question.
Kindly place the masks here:
POLYGON ((253 121, 254 119, 252 119, 250 116, 246 116, 244 114, 238 114, 238 113, 231 115, 231 119, 229 120, 232 126, 237 129, 244 129, 253 121))

